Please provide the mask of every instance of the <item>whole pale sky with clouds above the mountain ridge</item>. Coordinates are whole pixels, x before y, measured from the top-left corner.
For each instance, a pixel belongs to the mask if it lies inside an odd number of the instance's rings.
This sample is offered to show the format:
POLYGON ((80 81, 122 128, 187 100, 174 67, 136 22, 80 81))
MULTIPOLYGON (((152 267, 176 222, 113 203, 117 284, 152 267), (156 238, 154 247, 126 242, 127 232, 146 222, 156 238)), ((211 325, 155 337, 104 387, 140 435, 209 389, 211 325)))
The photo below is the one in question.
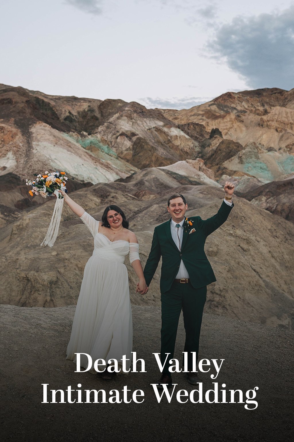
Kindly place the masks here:
POLYGON ((2 0, 0 83, 190 108, 294 88, 294 1, 2 0))

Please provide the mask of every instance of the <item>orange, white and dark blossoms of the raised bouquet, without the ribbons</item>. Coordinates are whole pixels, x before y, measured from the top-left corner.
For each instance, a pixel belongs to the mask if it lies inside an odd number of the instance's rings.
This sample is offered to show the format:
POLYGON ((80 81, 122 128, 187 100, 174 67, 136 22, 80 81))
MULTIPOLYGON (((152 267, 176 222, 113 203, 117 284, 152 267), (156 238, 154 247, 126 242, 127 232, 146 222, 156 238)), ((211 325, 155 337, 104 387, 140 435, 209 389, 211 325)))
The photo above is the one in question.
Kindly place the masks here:
POLYGON ((52 196, 54 192, 58 190, 67 193, 66 182, 68 178, 65 176, 65 172, 56 171, 49 173, 46 171, 44 175, 37 173, 34 173, 33 175, 36 177, 33 181, 26 179, 26 185, 32 186, 32 189, 29 191, 31 196, 35 194, 47 198, 48 196, 52 196))

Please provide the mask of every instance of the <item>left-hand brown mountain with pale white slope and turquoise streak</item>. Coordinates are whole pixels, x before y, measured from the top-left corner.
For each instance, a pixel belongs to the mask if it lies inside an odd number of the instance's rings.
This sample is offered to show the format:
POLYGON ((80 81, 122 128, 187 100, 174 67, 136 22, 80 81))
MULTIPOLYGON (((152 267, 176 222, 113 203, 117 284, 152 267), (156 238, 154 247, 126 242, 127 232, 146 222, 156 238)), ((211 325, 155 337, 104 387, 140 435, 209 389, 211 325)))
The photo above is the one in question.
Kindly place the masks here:
MULTIPOLYGON (((204 128, 202 132, 203 137, 204 128)), ((67 164, 75 178, 108 182, 137 168, 195 158, 201 130, 197 127, 193 133, 196 138, 160 111, 134 102, 0 87, 2 173, 24 176, 44 164, 46 168, 67 164)))

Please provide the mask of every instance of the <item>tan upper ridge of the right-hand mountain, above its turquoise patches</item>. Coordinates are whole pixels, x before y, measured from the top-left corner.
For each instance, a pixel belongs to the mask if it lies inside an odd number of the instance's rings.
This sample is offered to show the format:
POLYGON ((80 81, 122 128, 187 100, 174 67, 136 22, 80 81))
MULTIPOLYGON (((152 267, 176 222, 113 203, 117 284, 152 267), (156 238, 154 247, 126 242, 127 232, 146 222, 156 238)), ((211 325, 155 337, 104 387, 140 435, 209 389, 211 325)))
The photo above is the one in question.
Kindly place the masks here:
POLYGON ((227 92, 188 110, 162 112, 178 124, 203 124, 208 132, 217 127, 223 137, 243 146, 254 141, 265 148, 294 152, 294 89, 227 92))

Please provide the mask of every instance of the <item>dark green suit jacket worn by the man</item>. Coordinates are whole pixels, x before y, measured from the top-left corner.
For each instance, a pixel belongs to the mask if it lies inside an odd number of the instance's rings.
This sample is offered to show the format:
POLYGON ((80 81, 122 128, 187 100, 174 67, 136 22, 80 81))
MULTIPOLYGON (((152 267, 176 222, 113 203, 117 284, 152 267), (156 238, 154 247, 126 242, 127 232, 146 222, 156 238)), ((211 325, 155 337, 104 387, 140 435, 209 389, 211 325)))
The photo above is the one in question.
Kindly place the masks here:
POLYGON ((144 276, 149 286, 162 256, 160 292, 165 293, 171 288, 176 274, 179 271, 181 259, 189 273, 190 282, 195 289, 207 286, 216 281, 212 267, 205 255, 204 244, 210 233, 218 229, 229 216, 232 207, 223 201, 216 215, 202 220, 201 217, 189 217, 193 220, 191 229, 195 232, 183 232, 181 251, 175 245, 171 236, 171 220, 158 225, 154 235, 149 257, 147 259, 144 276))

